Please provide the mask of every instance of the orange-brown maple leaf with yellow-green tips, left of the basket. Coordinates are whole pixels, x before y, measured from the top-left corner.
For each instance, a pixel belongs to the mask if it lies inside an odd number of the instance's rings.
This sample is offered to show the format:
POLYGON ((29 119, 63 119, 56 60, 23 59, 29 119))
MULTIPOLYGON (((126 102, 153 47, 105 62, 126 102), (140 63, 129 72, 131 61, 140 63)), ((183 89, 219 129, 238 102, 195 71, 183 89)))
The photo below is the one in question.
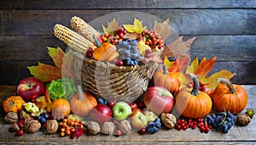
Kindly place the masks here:
POLYGON ((37 66, 28 66, 30 74, 44 82, 60 79, 61 76, 73 77, 73 56, 65 54, 61 47, 47 47, 55 66, 38 62, 37 66))

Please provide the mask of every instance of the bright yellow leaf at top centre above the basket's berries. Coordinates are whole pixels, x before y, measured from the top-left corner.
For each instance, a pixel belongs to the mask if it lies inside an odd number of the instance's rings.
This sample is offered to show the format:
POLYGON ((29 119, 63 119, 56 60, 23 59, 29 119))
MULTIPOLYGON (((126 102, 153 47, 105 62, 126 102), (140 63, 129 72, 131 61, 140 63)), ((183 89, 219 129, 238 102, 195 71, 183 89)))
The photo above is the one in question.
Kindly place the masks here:
POLYGON ((146 27, 143 27, 143 22, 140 20, 137 20, 136 18, 133 21, 133 25, 123 25, 125 30, 128 32, 136 32, 138 34, 141 34, 146 27))

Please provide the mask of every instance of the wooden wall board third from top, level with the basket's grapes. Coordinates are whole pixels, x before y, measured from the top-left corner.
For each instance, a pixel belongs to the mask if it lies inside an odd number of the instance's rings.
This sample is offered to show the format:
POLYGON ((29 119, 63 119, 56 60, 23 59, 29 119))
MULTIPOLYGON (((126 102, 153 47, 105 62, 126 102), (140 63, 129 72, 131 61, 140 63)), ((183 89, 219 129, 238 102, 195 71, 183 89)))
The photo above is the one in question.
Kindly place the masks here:
MULTIPOLYGON (((188 40, 193 36, 184 36, 188 40)), ((0 36, 0 60, 51 60, 47 46, 61 48, 67 45, 55 36, 0 36)), ((196 36, 190 47, 190 56, 207 59, 217 56, 217 61, 256 60, 256 36, 196 36)))

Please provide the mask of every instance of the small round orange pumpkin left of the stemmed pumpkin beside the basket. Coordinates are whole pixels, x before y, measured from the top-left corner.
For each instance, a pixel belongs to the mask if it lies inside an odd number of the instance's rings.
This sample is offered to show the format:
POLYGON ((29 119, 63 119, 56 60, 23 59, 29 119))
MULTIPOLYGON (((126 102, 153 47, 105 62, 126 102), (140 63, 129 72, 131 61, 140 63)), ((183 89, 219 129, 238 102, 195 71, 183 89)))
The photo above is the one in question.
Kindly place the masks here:
POLYGON ((68 101, 64 98, 57 98, 51 103, 51 114, 54 119, 61 120, 70 114, 71 108, 68 101))

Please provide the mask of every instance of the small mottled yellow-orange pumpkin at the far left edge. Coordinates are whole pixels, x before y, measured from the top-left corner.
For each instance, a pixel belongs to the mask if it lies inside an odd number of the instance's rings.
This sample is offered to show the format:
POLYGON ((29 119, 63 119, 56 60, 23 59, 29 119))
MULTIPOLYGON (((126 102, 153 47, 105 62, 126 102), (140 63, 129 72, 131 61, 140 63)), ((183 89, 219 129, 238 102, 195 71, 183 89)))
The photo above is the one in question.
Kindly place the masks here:
POLYGON ((11 96, 3 101, 3 110, 6 113, 18 113, 23 109, 23 104, 26 103, 20 96, 11 96))

